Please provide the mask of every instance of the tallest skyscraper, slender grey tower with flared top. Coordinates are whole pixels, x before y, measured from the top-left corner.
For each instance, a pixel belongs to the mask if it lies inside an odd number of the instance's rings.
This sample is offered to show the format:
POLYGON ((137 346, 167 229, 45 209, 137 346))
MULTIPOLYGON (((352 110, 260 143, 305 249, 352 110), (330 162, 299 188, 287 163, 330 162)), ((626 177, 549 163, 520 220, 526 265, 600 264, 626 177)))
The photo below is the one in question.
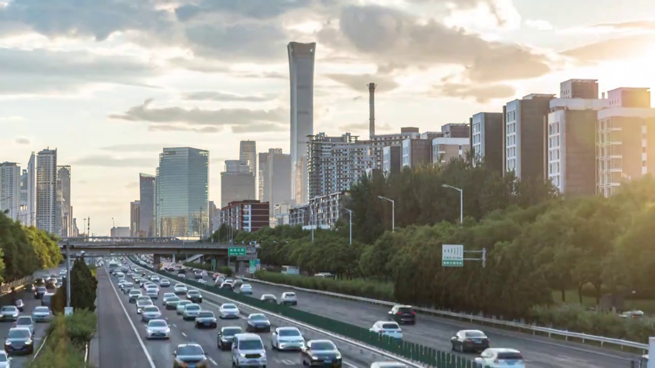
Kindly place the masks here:
POLYGON ((291 195, 307 203, 307 136, 314 135, 314 56, 316 43, 291 42, 289 55, 291 112, 291 195))

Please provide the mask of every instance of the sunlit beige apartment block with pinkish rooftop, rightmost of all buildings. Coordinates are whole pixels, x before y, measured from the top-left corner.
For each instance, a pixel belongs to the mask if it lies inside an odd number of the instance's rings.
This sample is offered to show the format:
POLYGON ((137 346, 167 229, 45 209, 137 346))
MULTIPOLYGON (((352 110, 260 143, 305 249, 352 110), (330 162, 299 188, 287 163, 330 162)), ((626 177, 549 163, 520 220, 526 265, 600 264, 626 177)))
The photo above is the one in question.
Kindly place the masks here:
POLYGON ((607 92, 610 107, 598 111, 597 193, 611 196, 622 181, 655 172, 655 109, 649 88, 607 92))

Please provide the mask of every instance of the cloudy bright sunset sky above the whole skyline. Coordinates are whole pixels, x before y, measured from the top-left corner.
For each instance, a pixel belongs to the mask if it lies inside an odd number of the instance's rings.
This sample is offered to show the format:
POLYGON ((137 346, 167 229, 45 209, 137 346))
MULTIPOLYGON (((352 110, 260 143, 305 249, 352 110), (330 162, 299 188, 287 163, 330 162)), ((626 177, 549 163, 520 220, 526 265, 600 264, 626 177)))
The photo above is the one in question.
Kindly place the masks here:
POLYGON ((58 149, 73 215, 128 226, 163 147, 289 153, 290 41, 316 42, 314 133, 439 130, 567 79, 655 86, 652 0, 0 0, 0 162, 58 149))

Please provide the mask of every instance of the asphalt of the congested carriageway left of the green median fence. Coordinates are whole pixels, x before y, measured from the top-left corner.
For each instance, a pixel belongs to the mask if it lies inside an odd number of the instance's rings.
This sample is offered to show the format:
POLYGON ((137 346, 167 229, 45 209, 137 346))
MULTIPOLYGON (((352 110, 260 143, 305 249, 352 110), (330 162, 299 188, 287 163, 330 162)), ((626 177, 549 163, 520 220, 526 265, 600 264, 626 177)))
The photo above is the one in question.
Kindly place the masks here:
MULTIPOLYGON (((175 282, 172 280, 172 284, 175 282)), ((172 292, 171 287, 162 287, 160 295, 172 292)), ((135 304, 128 301, 116 282, 107 273, 106 268, 98 270, 98 297, 100 327, 99 348, 100 361, 112 367, 167 367, 172 365, 172 353, 178 344, 197 342, 204 349, 211 365, 231 367, 229 352, 221 352, 217 348, 217 333, 226 325, 239 325, 246 328, 245 316, 240 320, 218 320, 217 329, 196 329, 193 322, 183 321, 174 310, 166 310, 162 300, 154 302, 162 311, 162 316, 171 326, 170 340, 145 339, 145 323, 141 322, 135 304), (102 296, 102 297, 101 297, 102 296)), ((202 309, 212 310, 218 315, 218 306, 221 301, 215 297, 204 295, 202 309)), ((272 324, 272 328, 280 327, 272 324)), ((260 334, 267 348, 269 368, 286 368, 289 366, 301 367, 302 362, 298 352, 277 352, 271 348, 271 335, 260 334)), ((307 336, 306 336, 307 338, 307 336)), ((373 359, 371 356, 352 356, 349 352, 341 352, 345 367, 363 368, 369 366, 373 359)), ((102 367, 100 367, 102 368, 102 367)))

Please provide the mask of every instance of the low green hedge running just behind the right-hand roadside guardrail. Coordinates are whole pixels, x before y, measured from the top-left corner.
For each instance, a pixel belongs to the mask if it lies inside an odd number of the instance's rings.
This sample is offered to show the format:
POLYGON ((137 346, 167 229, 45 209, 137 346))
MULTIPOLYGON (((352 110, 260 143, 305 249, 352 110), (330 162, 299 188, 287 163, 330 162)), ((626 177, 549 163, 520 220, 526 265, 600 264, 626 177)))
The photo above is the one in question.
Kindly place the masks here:
MULTIPOLYGON (((365 280, 331 280, 267 272, 255 272, 255 278, 275 284, 286 284, 305 289, 330 291, 356 297, 379 299, 394 302, 392 285, 365 280)), ((579 304, 559 304, 557 306, 534 306, 527 323, 543 327, 587 333, 615 339, 645 342, 655 335, 655 319, 639 320, 621 318, 611 312, 595 312, 579 304)))

